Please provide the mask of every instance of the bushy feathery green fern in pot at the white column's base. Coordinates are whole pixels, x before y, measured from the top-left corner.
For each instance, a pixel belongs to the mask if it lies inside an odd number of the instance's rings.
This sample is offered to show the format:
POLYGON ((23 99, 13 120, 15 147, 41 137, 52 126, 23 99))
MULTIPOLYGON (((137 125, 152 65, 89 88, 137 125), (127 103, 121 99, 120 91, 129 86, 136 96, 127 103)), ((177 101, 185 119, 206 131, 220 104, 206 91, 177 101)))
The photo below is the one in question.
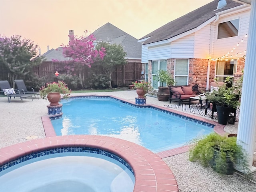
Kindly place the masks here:
POLYGON ((242 146, 236 143, 236 137, 209 134, 190 149, 189 160, 199 162, 202 166, 211 166, 221 174, 232 174, 234 164, 239 160, 241 168, 248 170, 248 160, 242 146))

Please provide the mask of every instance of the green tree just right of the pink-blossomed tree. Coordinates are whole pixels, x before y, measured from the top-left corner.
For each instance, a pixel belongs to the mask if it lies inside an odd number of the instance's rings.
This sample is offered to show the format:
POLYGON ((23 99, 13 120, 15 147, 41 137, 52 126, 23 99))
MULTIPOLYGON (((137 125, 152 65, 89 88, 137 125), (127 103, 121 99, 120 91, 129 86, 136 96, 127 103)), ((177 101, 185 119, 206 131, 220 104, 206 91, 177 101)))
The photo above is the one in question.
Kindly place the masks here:
POLYGON ((108 77, 109 86, 112 88, 111 84, 111 76, 112 72, 120 65, 124 65, 127 63, 125 57, 126 52, 121 44, 109 44, 107 42, 99 42, 96 45, 96 50, 100 50, 101 48, 105 48, 105 56, 103 60, 98 60, 97 65, 100 65, 100 68, 103 69, 105 75, 108 77))

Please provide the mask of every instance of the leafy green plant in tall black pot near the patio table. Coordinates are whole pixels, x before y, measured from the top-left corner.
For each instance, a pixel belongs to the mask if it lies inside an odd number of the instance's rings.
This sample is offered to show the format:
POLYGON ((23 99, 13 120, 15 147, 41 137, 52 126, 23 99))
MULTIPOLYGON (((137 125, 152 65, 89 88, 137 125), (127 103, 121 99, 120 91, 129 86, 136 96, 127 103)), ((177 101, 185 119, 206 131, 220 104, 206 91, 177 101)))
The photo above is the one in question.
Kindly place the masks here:
MULTIPOLYGON (((217 80, 215 79, 215 81, 217 80)), ((224 82, 230 83, 231 77, 227 77, 224 82)), ((240 105, 239 98, 241 96, 240 85, 234 84, 227 87, 226 84, 206 94, 206 100, 216 105, 218 123, 224 125, 228 122, 230 112, 236 110, 237 106, 240 105)))

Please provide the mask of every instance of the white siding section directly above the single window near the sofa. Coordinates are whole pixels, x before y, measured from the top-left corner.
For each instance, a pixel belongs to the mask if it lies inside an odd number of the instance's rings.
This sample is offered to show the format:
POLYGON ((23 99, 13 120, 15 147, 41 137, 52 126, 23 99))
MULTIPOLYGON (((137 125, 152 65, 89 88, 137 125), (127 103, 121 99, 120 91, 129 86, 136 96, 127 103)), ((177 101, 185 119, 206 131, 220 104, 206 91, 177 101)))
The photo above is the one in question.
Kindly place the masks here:
POLYGON ((186 59, 194 57, 194 33, 171 43, 171 58, 186 59))

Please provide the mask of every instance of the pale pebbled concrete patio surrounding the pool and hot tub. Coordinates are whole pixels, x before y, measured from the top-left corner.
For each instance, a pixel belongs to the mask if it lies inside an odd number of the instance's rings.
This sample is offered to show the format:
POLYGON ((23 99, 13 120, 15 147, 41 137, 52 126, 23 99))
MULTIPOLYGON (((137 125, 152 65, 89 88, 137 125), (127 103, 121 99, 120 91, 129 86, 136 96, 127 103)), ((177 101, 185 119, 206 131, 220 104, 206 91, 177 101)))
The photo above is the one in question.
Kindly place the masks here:
MULTIPOLYGON (((92 95, 92 93, 72 94, 72 95, 92 95)), ((135 102, 137 96, 136 91, 123 92, 98 92, 95 95, 113 95, 119 98, 124 98, 131 102, 135 102)), ((160 102, 157 98, 147 97, 147 104, 154 104, 165 107, 169 102, 160 102)), ((7 98, 0 98, 0 105, 2 109, 0 112, 0 148, 12 144, 27 141, 28 136, 38 136, 38 138, 45 138, 44 128, 42 125, 41 116, 47 114, 46 105, 48 101, 42 99, 24 99, 22 103, 18 98, 11 100, 8 103, 7 98)), ((173 102, 172 104, 176 104, 173 102)), ((173 110, 177 110, 173 108, 173 110)), ((202 108, 204 111, 204 108, 202 108)), ((183 111, 186 113, 186 111, 183 111)), ((201 115, 194 114, 200 118, 206 118, 201 115)), ((216 121, 216 120, 214 120, 216 121)), ((238 122, 234 125, 228 124, 224 130, 228 133, 237 133, 238 122)), ((256 150, 254 150, 256 151, 256 150)), ((255 156, 255 155, 254 155, 255 156)), ((210 168, 203 168, 197 163, 188 160, 188 152, 163 158, 164 162, 168 164, 174 173, 178 182, 180 192, 189 191, 211 191, 211 192, 248 192, 256 191, 256 174, 244 176, 235 172, 233 175, 220 176, 210 168)), ((256 160, 256 157, 254 157, 256 160)))

